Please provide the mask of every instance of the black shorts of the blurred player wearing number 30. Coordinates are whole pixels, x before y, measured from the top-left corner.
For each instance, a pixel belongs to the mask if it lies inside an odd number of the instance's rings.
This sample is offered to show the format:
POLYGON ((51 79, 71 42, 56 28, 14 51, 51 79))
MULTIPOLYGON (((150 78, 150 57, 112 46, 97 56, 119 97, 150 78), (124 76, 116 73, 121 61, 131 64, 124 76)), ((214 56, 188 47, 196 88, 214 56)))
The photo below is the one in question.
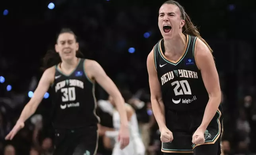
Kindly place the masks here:
POLYGON ((79 129, 55 129, 53 155, 95 155, 97 126, 79 129))

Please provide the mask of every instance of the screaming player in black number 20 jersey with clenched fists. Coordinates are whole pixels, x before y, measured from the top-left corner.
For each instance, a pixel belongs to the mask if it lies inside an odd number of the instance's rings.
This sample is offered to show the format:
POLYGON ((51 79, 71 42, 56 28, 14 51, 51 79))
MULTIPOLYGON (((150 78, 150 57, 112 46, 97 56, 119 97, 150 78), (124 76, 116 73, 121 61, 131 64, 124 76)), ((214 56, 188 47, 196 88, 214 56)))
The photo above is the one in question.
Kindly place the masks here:
POLYGON ((178 2, 159 9, 163 36, 147 57, 162 152, 220 155, 221 90, 212 50, 178 2))

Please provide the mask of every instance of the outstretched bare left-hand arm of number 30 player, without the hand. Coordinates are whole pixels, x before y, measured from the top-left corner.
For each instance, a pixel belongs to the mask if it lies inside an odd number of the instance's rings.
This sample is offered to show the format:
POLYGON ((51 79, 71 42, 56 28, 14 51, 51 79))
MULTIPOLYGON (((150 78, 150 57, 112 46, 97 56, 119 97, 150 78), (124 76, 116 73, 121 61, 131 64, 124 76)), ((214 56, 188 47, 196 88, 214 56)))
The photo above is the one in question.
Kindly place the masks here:
POLYGON ((22 110, 18 121, 25 122, 31 115, 33 115, 33 113, 35 113, 39 103, 42 101, 45 93, 48 91, 50 84, 54 81, 54 73, 54 67, 45 70, 43 76, 39 81, 37 89, 35 89, 33 97, 29 100, 29 102, 22 110))

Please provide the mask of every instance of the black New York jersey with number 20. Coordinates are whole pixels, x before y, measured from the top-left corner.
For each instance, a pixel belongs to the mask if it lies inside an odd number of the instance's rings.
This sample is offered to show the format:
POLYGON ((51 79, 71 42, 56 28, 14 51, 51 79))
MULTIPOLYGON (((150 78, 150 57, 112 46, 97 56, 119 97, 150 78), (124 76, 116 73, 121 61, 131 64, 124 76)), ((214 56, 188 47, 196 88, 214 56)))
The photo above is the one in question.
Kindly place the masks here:
POLYGON ((165 108, 176 111, 205 109, 209 96, 194 57, 197 37, 186 35, 184 53, 176 62, 165 57, 164 40, 154 47, 154 60, 165 108))

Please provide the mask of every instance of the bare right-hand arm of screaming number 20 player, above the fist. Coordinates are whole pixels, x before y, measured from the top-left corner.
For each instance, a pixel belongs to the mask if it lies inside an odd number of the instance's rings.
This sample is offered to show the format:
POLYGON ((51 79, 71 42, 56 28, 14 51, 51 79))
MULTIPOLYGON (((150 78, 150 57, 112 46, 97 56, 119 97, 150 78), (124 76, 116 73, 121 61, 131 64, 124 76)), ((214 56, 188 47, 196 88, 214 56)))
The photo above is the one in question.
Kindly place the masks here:
POLYGON ((213 56, 208 47, 200 39, 198 39, 195 56, 196 64, 198 69, 201 70, 202 79, 209 95, 209 101, 199 127, 202 130, 206 130, 221 102, 221 89, 213 56))

